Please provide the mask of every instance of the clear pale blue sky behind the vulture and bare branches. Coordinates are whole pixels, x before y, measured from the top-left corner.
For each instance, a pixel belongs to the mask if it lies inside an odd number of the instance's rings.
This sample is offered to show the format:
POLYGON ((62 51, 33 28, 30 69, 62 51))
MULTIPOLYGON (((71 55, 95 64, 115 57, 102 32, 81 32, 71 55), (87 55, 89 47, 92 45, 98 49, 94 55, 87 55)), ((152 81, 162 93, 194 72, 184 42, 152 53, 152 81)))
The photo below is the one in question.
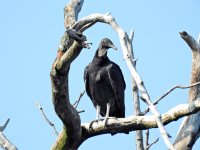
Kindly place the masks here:
MULTIPOLYGON (((64 32, 63 8, 68 1, 6 0, 0 5, 1 43, 1 94, 0 123, 11 121, 4 131, 8 139, 20 150, 47 150, 56 140, 51 127, 42 118, 36 102, 40 102, 46 115, 57 129, 62 123, 54 113, 51 101, 49 72, 56 57, 60 37, 64 32)), ((191 70, 191 51, 180 38, 186 30, 198 37, 200 1, 136 1, 136 0, 85 0, 79 18, 92 13, 111 12, 118 24, 128 33, 135 32, 133 47, 138 58, 137 70, 144 80, 152 100, 176 84, 188 85, 191 70)), ((133 113, 130 72, 123 60, 117 34, 105 24, 96 24, 84 32, 93 42, 90 50, 83 49, 73 62, 69 75, 70 99, 73 103, 84 90, 83 70, 92 60, 99 41, 108 37, 118 47, 109 51, 109 57, 121 67, 126 84, 126 116, 133 113)), ((163 113, 170 108, 187 103, 188 90, 176 90, 158 106, 163 113)), ((146 105, 142 103, 142 109, 146 105)), ((82 122, 95 118, 95 109, 84 95, 78 109, 82 122)), ((176 137, 181 120, 166 126, 176 137)), ((129 135, 101 135, 88 139, 80 150, 135 149, 135 138, 129 135)), ((157 129, 150 131, 150 141, 160 137, 157 129)), ((197 142, 194 149, 200 146, 197 142)), ((160 137, 152 149, 167 149, 160 137)))

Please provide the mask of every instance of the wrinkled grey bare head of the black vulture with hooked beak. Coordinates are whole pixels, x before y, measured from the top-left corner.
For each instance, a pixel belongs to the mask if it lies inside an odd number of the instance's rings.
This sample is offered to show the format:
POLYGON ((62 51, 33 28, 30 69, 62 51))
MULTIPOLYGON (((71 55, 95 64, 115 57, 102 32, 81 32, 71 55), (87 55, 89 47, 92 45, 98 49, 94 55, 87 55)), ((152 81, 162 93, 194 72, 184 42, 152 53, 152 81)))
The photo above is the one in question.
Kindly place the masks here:
POLYGON ((99 57, 106 56, 107 50, 109 48, 113 48, 113 49, 117 50, 117 47, 112 43, 112 41, 110 39, 108 39, 108 38, 102 39, 99 44, 99 48, 98 48, 98 56, 99 57))

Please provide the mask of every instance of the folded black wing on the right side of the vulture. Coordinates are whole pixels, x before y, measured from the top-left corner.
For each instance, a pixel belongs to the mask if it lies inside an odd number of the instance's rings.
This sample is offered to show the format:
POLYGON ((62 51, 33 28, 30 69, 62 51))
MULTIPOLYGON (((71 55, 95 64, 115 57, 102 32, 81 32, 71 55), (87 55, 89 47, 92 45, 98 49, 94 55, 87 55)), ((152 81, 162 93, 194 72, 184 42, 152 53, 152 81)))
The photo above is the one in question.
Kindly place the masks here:
POLYGON ((126 84, 121 69, 115 63, 108 65, 107 67, 109 80, 112 86, 112 89, 115 93, 115 99, 117 105, 123 115, 125 115, 125 106, 124 106, 124 90, 126 84))

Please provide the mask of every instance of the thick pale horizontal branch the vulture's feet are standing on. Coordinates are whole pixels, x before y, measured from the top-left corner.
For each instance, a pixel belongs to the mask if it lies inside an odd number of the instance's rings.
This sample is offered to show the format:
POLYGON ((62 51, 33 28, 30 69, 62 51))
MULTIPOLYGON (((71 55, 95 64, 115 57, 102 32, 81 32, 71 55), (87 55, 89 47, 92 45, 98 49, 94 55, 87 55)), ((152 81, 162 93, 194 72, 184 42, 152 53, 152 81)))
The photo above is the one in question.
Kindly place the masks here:
MULTIPOLYGON (((196 100, 189 104, 178 105, 165 114, 162 115, 162 122, 164 125, 172 121, 176 121, 183 116, 194 114, 200 110, 200 101, 196 100)), ((157 128, 157 122, 154 115, 148 116, 129 116, 126 118, 108 119, 106 128, 103 121, 98 123, 94 122, 91 126, 90 123, 82 124, 82 130, 84 135, 82 136, 82 142, 86 139, 97 136, 100 134, 108 133, 125 133, 135 130, 146 130, 150 128, 157 128), (91 128, 90 128, 91 127, 91 128)))

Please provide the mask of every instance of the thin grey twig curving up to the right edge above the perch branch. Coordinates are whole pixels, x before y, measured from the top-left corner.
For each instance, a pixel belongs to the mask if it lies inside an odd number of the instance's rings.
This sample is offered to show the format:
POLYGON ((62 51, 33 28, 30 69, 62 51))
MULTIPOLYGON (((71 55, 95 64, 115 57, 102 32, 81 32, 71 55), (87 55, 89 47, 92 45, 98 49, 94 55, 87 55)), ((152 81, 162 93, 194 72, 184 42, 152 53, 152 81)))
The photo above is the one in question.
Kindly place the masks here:
MULTIPOLYGON (((153 104, 156 105, 158 104, 164 97, 166 97, 169 93, 171 93, 172 91, 174 91, 175 89, 179 88, 179 89, 187 89, 187 88, 191 88, 194 86, 199 85, 200 82, 196 82, 194 84, 191 84, 189 86, 183 86, 183 85, 176 85, 173 88, 171 88, 170 90, 168 90, 165 94, 163 94, 161 97, 159 97, 153 104)), ((140 115, 145 115, 146 113, 149 112, 149 108, 147 108, 144 112, 142 112, 140 115)))

